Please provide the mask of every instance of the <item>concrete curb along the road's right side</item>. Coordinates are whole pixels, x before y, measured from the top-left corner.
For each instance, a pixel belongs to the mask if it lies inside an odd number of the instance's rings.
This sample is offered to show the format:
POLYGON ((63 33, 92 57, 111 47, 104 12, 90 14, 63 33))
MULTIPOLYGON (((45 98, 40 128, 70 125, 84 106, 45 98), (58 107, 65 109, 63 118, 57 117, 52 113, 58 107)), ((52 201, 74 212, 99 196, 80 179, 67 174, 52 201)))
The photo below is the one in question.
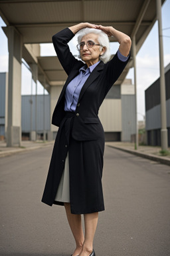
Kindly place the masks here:
POLYGON ((125 149, 125 148, 122 148, 122 147, 116 147, 116 146, 112 146, 112 145, 107 145, 107 146, 108 147, 113 147, 114 149, 122 150, 124 152, 130 153, 130 154, 133 154, 133 155, 137 155, 139 157, 150 159, 152 161, 157 161, 159 163, 163 163, 164 165, 170 165, 170 159, 167 159, 165 157, 158 157, 156 155, 145 154, 145 153, 141 153, 139 151, 135 151, 135 150, 132 150, 132 149, 125 149))

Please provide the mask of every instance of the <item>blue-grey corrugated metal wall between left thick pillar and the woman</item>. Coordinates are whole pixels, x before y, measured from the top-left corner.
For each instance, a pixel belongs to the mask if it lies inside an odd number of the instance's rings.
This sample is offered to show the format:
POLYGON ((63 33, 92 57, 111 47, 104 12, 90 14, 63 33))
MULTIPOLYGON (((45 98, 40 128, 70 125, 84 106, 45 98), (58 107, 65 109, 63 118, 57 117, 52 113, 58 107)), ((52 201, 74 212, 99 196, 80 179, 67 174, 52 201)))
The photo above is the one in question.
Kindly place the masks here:
POLYGON ((37 95, 37 121, 36 121, 36 95, 23 95, 21 109, 21 127, 23 133, 31 131, 31 107, 32 107, 32 131, 39 133, 50 131, 50 95, 37 95), (32 103, 31 103, 32 102, 32 103), (45 124, 45 126, 44 126, 45 124))

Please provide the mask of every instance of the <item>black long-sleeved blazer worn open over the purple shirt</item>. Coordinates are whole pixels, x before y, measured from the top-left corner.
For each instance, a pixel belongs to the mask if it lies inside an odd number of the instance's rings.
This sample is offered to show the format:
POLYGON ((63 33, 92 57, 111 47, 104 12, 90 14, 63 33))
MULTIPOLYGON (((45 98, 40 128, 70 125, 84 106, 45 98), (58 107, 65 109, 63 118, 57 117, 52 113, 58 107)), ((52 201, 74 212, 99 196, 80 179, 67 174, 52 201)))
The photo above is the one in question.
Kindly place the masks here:
MULTIPOLYGON (((84 65, 84 62, 78 61, 72 53, 70 53, 67 43, 72 37, 74 37, 74 33, 68 28, 56 33, 56 35, 52 37, 58 59, 68 75, 68 79, 60 93, 52 115, 52 124, 58 127, 65 114, 64 93, 66 86, 78 75, 80 67, 84 65)), ((78 141, 96 140, 100 135, 103 135, 104 130, 98 118, 98 110, 106 94, 118 77, 120 77, 128 61, 120 61, 116 53, 112 60, 108 61, 106 64, 100 61, 92 71, 80 91, 78 104, 76 106, 72 126, 72 137, 74 139, 78 141)))

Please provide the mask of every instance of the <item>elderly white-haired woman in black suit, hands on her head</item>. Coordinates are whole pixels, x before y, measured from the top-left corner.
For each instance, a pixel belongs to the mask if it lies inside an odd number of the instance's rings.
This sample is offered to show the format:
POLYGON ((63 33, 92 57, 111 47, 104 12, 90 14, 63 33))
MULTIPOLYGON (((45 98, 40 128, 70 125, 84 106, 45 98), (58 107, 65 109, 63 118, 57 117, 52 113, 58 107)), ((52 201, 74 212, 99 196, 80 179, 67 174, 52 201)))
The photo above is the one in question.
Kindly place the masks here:
POLYGON ((64 205, 76 241, 72 256, 94 256, 98 212, 104 211, 104 130, 98 110, 128 63, 131 40, 114 27, 80 23, 60 31, 52 41, 68 79, 52 115, 52 124, 59 129, 42 202, 64 205), (81 60, 68 47, 78 32, 81 60), (108 36, 120 43, 111 60, 108 36), (85 234, 81 214, 84 214, 85 234))

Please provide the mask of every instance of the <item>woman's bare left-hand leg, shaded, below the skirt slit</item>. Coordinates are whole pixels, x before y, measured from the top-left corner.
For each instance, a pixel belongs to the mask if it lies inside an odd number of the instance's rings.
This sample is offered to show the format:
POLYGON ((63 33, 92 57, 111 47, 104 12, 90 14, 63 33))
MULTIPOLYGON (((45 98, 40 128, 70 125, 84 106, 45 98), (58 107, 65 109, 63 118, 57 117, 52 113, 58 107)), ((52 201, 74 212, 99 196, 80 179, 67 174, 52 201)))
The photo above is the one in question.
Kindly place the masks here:
POLYGON ((72 214, 70 211, 70 203, 64 203, 66 209, 66 216, 70 229, 76 241, 76 249, 73 253, 73 256, 79 255, 82 251, 82 245, 84 243, 84 233, 82 230, 82 218, 79 214, 72 214))

